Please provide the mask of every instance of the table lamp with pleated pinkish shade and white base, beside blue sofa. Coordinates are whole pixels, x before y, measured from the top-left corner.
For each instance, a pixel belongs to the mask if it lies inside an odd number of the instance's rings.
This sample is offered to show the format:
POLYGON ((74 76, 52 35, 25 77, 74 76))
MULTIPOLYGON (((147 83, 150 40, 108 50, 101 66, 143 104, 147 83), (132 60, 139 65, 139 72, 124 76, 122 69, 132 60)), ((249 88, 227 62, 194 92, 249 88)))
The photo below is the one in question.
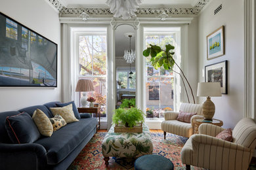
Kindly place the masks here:
POLYGON ((75 88, 75 92, 83 92, 81 99, 80 99, 80 103, 82 107, 85 107, 87 105, 87 93, 86 92, 91 92, 94 91, 95 89, 93 88, 93 82, 91 82, 91 80, 87 80, 87 79, 79 79, 77 84, 76 84, 76 88, 75 88))

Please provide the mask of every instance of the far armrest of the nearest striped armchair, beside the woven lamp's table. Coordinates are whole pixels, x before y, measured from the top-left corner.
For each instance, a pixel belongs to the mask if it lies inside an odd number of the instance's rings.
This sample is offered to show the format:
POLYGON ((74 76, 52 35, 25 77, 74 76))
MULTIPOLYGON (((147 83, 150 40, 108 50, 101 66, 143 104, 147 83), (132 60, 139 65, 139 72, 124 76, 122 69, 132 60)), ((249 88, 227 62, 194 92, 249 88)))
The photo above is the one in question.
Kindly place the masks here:
POLYGON ((212 137, 215 137, 223 130, 223 127, 215 126, 213 124, 200 124, 198 127, 199 134, 209 135, 212 137))

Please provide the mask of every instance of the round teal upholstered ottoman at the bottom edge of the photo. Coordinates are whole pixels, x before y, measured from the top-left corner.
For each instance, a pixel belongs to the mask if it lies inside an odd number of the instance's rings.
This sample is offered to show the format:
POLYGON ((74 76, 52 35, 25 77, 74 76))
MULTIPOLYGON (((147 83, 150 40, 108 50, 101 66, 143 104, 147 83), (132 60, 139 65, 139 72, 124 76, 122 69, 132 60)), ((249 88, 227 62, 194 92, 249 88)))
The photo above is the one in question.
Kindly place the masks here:
POLYGON ((173 162, 160 155, 144 155, 135 161, 135 170, 173 170, 173 162))

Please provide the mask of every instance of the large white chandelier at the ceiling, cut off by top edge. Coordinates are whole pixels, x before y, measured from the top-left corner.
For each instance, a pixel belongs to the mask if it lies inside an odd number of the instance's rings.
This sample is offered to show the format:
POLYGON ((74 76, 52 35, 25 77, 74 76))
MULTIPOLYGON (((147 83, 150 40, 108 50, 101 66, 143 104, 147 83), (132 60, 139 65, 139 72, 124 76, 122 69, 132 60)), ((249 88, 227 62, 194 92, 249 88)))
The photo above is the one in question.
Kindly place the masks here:
POLYGON ((110 12, 114 17, 121 17, 123 20, 128 20, 136 16, 135 12, 142 0, 108 0, 106 5, 110 7, 110 12))

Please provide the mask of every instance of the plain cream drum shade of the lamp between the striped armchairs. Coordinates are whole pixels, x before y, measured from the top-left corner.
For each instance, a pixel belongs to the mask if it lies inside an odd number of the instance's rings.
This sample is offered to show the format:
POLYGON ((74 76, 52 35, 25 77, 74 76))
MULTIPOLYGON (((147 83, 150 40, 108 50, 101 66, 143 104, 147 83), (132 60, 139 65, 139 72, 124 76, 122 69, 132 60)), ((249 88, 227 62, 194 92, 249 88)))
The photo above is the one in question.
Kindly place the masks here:
POLYGON ((200 97, 220 97, 220 82, 198 82, 198 96, 200 97))

